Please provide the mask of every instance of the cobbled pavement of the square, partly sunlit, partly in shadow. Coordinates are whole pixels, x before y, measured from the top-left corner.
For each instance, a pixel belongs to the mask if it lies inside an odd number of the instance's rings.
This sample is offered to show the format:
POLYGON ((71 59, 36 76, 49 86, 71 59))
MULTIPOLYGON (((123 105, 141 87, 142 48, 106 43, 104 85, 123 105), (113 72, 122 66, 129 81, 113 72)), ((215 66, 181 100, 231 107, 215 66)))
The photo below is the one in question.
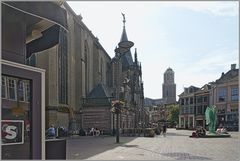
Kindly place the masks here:
POLYGON ((166 137, 72 137, 67 159, 85 160, 239 160, 239 132, 231 138, 190 138, 192 131, 168 129, 166 137))

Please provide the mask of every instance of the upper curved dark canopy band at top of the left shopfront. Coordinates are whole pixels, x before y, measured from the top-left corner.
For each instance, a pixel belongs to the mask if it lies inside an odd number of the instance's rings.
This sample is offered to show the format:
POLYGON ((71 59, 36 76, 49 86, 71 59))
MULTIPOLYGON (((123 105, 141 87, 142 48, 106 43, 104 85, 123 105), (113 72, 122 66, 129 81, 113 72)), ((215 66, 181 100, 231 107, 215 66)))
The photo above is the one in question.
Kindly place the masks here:
POLYGON ((9 7, 38 18, 51 21, 67 30, 66 10, 56 2, 1 2, 9 7))

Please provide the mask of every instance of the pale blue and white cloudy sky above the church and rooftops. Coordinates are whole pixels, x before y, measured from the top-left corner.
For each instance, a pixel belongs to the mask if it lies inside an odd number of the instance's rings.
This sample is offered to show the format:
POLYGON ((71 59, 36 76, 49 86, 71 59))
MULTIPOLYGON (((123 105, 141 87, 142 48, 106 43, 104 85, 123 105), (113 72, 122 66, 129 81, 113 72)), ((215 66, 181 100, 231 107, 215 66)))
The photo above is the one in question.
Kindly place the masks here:
POLYGON ((76 14, 113 57, 126 16, 128 39, 142 63, 144 94, 162 98, 163 73, 175 72, 177 95, 239 67, 238 2, 72 1, 76 14))

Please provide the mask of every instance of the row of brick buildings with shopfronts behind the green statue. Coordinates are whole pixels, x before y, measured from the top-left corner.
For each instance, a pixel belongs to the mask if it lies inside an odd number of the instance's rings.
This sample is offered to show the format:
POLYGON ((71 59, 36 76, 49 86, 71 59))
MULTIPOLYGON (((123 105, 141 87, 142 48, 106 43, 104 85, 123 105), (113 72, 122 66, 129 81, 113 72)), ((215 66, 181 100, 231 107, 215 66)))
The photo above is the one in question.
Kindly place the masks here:
POLYGON ((195 129, 207 127, 205 110, 217 108, 217 126, 229 130, 239 129, 239 70, 232 64, 229 71, 222 73, 214 82, 198 88, 190 86, 179 95, 179 128, 195 129))

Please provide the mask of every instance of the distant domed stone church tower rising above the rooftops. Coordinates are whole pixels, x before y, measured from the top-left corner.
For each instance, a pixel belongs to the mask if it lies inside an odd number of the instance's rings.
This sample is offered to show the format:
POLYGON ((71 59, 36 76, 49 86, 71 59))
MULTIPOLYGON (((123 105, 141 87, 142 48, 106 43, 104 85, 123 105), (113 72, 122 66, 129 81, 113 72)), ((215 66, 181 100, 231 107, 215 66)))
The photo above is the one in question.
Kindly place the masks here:
POLYGON ((176 84, 174 83, 174 71, 168 68, 164 73, 162 95, 166 104, 176 102, 176 84))

